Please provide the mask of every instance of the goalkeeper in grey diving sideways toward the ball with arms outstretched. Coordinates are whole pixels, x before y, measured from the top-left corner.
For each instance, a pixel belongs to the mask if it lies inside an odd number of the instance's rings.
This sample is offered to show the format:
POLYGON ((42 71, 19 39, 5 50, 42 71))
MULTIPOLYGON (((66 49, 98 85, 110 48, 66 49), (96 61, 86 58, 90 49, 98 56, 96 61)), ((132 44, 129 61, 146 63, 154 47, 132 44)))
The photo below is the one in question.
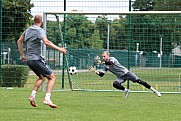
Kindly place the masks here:
POLYGON ((107 71, 112 72, 117 76, 113 82, 113 87, 125 92, 126 98, 128 97, 130 90, 122 86, 126 80, 131 80, 134 83, 143 85, 144 87, 152 90, 158 97, 161 96, 160 92, 151 87, 147 82, 139 79, 134 73, 130 72, 127 68, 122 66, 118 60, 114 57, 110 57, 107 51, 102 53, 102 59, 104 61, 104 68, 102 71, 96 71, 95 73, 99 76, 104 76, 107 71))

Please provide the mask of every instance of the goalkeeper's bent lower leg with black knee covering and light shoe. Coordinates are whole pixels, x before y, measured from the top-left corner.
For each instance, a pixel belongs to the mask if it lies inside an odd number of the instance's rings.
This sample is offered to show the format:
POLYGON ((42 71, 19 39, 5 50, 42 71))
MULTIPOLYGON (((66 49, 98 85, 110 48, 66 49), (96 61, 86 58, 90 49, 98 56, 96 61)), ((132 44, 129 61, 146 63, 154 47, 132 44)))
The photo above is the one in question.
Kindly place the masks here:
MULTIPOLYGON (((124 82, 124 81, 123 81, 124 82)), ((130 90, 125 88, 124 86, 121 85, 121 83, 119 81, 114 81, 113 82, 113 87, 119 90, 123 90, 125 92, 125 96, 126 98, 128 97, 130 90)))

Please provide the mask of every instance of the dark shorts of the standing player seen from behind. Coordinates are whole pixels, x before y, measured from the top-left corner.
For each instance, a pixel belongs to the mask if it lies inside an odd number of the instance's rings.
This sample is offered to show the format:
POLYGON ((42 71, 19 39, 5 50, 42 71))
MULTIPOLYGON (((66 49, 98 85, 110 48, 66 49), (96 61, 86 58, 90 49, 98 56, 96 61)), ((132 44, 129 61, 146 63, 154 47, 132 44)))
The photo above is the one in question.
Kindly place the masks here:
POLYGON ((48 77, 52 74, 52 70, 43 60, 30 60, 27 61, 27 64, 37 76, 42 75, 44 77, 48 77))

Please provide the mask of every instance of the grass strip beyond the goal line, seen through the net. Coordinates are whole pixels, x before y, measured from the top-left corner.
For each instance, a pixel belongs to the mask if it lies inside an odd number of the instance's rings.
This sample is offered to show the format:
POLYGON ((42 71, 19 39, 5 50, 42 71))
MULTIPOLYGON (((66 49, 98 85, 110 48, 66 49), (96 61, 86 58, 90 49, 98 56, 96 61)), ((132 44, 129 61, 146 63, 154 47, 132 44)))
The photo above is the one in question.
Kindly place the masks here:
MULTIPOLYGON (((151 86, 161 92, 180 92, 181 91, 181 68, 132 68, 139 78, 148 82, 151 86)), ((61 90, 62 73, 55 72, 57 77, 55 90, 61 90)), ((37 77, 30 75, 25 84, 26 88, 32 88, 32 85, 37 77)), ((73 89, 89 89, 89 90, 115 90, 112 83, 116 79, 115 75, 110 72, 105 76, 99 77, 94 72, 85 71, 79 72, 71 76, 73 82, 73 89)), ((149 91, 142 85, 137 83, 129 83, 129 87, 134 91, 149 91)), ((127 86, 127 82, 123 84, 127 86)), ((65 74, 64 89, 70 89, 68 76, 65 74)))

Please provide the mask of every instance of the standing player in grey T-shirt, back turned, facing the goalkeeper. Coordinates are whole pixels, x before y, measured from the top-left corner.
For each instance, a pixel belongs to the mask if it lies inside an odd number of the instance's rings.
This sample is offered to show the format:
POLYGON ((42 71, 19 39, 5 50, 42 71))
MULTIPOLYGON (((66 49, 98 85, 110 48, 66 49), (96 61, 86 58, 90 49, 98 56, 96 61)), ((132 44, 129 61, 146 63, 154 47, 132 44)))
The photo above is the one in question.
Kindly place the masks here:
POLYGON ((65 48, 60 48, 49 41, 46 37, 44 29, 41 28, 41 25, 42 15, 36 14, 34 16, 34 25, 30 26, 23 32, 17 41, 17 45, 22 61, 27 62, 30 69, 38 76, 38 79, 34 83, 31 96, 29 97, 30 104, 33 107, 37 106, 35 101, 37 90, 42 85, 45 78, 47 78, 48 83, 43 103, 51 108, 57 108, 57 105, 53 104, 50 99, 56 77, 41 56, 41 45, 44 43, 46 46, 58 50, 64 54, 66 54, 67 50, 65 48))

